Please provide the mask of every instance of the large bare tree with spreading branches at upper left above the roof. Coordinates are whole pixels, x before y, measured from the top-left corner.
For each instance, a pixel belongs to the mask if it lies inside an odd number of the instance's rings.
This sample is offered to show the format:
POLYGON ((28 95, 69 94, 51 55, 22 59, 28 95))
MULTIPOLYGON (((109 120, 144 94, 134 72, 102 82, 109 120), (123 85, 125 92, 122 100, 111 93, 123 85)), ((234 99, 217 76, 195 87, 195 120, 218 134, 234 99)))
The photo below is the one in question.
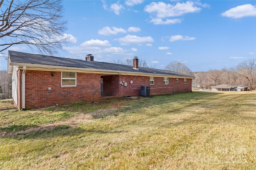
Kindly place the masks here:
POLYGON ((15 44, 52 55, 68 42, 61 0, 0 0, 0 52, 15 44))

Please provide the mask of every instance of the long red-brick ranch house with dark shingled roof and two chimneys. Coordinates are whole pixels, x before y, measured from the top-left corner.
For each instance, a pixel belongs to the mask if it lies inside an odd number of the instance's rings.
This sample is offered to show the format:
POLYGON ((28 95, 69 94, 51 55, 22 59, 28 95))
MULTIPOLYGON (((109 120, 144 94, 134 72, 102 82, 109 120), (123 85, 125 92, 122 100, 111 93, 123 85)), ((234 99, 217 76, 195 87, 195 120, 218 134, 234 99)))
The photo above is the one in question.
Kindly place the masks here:
POLYGON ((9 51, 12 95, 18 109, 138 96, 190 92, 193 76, 168 70, 9 51), (143 89, 143 88, 142 88, 143 89), (147 91, 148 92, 148 91, 147 91))

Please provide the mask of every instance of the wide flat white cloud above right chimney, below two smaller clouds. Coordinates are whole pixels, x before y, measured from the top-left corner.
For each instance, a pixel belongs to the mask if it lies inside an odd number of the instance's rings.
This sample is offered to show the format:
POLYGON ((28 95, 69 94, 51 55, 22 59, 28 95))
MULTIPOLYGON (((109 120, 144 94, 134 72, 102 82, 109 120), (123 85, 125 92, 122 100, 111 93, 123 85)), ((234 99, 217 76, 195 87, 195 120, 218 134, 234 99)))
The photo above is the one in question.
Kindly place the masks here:
POLYGON ((122 38, 114 39, 120 42, 121 45, 129 45, 130 43, 145 43, 145 42, 154 42, 154 39, 150 36, 148 37, 137 37, 132 35, 127 35, 122 38))

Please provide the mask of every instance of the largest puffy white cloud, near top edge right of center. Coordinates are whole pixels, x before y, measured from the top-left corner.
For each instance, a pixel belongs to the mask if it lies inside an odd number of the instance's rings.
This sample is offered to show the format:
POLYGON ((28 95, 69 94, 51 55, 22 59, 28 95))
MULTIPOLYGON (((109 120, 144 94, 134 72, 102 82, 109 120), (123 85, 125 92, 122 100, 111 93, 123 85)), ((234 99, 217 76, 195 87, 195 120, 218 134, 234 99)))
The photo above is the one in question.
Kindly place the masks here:
POLYGON ((153 22, 154 24, 176 24, 180 23, 181 19, 166 19, 165 21, 162 19, 199 12, 201 8, 196 5, 205 7, 205 5, 191 1, 185 3, 178 2, 174 6, 164 2, 151 2, 144 8, 144 11, 152 14, 152 20, 150 22, 153 22))

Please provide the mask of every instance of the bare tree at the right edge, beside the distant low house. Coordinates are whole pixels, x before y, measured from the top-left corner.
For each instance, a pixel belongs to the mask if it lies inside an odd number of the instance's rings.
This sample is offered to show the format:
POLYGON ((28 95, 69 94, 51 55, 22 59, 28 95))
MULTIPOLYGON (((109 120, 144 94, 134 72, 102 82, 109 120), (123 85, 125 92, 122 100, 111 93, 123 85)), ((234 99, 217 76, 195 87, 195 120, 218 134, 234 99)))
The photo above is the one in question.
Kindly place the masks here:
POLYGON ((250 59, 240 63, 237 67, 237 74, 245 77, 249 82, 249 87, 252 90, 256 85, 256 59, 250 59))

